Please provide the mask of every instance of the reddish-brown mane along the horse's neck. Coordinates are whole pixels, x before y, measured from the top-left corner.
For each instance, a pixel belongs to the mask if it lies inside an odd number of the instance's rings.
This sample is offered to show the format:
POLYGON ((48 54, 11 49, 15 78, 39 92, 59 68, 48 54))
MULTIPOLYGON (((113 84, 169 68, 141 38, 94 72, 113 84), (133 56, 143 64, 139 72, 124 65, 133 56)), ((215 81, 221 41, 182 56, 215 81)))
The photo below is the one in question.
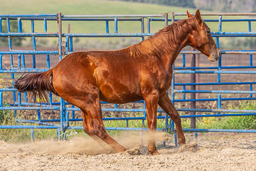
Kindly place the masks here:
POLYGON ((135 56, 157 56, 163 52, 170 52, 177 49, 180 41, 188 29, 196 27, 195 18, 179 20, 156 32, 153 36, 125 48, 130 55, 135 56))

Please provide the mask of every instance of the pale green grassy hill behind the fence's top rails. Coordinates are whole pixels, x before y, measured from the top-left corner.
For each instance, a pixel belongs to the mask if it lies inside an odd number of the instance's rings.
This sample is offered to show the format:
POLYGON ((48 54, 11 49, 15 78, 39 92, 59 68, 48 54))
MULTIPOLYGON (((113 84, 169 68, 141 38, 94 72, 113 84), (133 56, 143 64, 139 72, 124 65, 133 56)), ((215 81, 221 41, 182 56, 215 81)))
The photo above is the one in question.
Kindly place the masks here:
MULTIPOLYGON (((61 12, 64 15, 75 15, 75 14, 160 14, 164 12, 189 12, 193 13, 196 9, 156 5, 156 4, 145 4, 145 3, 131 3, 131 2, 119 2, 119 1, 99 1, 99 0, 44 0, 44 1, 34 1, 34 0, 12 0, 4 1, 0 0, 0 11, 1 14, 27 14, 27 13, 58 13, 61 12)), ((209 12, 209 11, 201 11, 209 12)), ((182 17, 181 17, 182 18, 182 17)), ((218 16, 208 16, 203 17, 204 19, 218 19, 218 16)), ((223 16, 223 19, 230 18, 228 16, 223 16)), ((232 17, 237 18, 237 17, 232 17)), ((240 17, 241 18, 241 17, 240 17)), ((5 21, 3 21, 5 22, 5 21)), ((104 33, 106 32, 105 22, 91 22, 91 21, 63 21, 62 30, 67 32, 67 25, 70 23, 72 33, 104 33)), ((212 31, 218 30, 217 23, 207 23, 212 31)), ((114 22, 110 22, 110 32, 114 32, 114 22)), ((31 25, 29 21, 23 21, 23 32, 30 32, 31 25)), ((49 21, 47 22, 48 31, 57 31, 57 22, 49 21)), ((156 32, 157 30, 164 27, 164 22, 153 22, 151 24, 151 32, 156 32)), ((252 28, 255 31, 256 24, 252 22, 252 28)), ((43 31, 43 22, 35 22, 35 31, 43 31)), ((241 23, 224 23, 223 31, 247 31, 247 22, 241 23)), ((146 31, 146 24, 145 24, 146 31)), ((141 32, 141 24, 139 21, 135 22, 118 22, 118 32, 141 32)), ((131 39, 131 38, 130 38, 131 39)), ((225 42, 227 38, 221 38, 225 42)), ((125 41, 125 44, 129 45, 134 43, 134 41, 140 41, 140 39, 132 38, 130 42, 128 38, 80 38, 76 39, 81 45, 88 45, 92 41, 103 41, 111 42, 113 46, 118 44, 120 41, 125 41), (117 42, 116 42, 117 41, 117 42), (129 41, 129 42, 126 42, 129 41)), ((57 40, 54 38, 38 38, 38 42, 42 46, 52 46, 56 45, 57 40), (48 40, 48 41, 47 41, 48 40)), ((30 38, 26 39, 25 45, 31 44, 30 38)))

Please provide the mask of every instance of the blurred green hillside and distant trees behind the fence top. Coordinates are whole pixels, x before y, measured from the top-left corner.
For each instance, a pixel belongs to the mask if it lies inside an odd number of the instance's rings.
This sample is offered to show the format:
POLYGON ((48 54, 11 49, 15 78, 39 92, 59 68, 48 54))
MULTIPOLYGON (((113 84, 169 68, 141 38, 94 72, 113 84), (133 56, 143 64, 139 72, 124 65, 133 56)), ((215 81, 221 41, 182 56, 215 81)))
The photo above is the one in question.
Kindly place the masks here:
MULTIPOLYGON (((203 5, 198 6, 195 1, 137 1, 136 2, 124 2, 124 1, 102 1, 102 0, 74 0, 68 1, 63 0, 45 0, 45 1, 33 1, 33 0, 25 0, 25 1, 3 1, 1 2, 0 11, 1 14, 26 14, 26 13, 58 13, 61 12, 65 15, 74 15, 74 14, 161 14, 164 12, 189 12, 193 13, 196 11, 196 8, 200 8, 201 12, 225 12, 221 11, 221 8, 208 8, 203 5), (147 2, 147 3, 145 3, 147 2), (191 2, 194 2, 195 5, 190 5, 191 2), (155 4, 152 4, 155 3, 155 4), (29 4, 29 10, 27 5, 29 4), (164 5, 163 5, 164 4, 164 5), (182 5, 183 4, 183 5, 182 5), (169 6, 175 5, 175 6, 169 6), (203 10, 206 9, 206 10, 203 10), (213 10, 213 11, 212 11, 213 10)), ((206 3, 205 1, 200 1, 202 4, 211 4, 206 3), (205 2, 205 3, 203 3, 205 2)), ((214 1, 215 2, 215 1, 214 1)), ((218 1, 222 2, 222 1, 218 1)), ((224 2, 224 1, 223 1, 224 2)), ((225 1, 226 2, 226 1, 225 1)), ((235 1, 232 1, 231 4, 235 4, 235 1)), ((241 1, 244 2, 244 1, 241 1)), ((247 4, 244 3, 244 6, 247 4)), ((251 2, 251 1, 250 1, 251 2)), ((254 1, 253 1, 254 2, 254 1)), ((239 1, 240 3, 240 1, 239 1)), ((236 4, 239 4, 238 2, 236 4)), ((212 4, 211 6, 216 5, 212 4)), ((250 6, 253 6, 252 4, 250 6)), ((235 11, 236 12, 236 11, 235 11)), ((243 12, 243 11, 239 11, 243 12)), ((250 12, 250 11, 246 11, 250 12)), ((184 18, 186 16, 177 17, 184 18)), ((203 16, 204 19, 218 19, 218 16, 203 16)), ((223 16, 223 19, 230 18, 249 18, 248 16, 223 16)), ((2 21, 3 30, 6 30, 5 20, 2 21)), ((105 33, 106 25, 105 22, 77 22, 77 21, 63 21, 62 23, 62 32, 68 31, 68 24, 70 24, 70 32, 72 33, 105 33)), ((218 23, 209 22, 207 23, 212 31, 218 31, 218 23)), ((114 22, 109 23, 110 32, 114 32, 114 22)), ((13 22, 13 29, 11 31, 17 31, 17 21, 13 22), (16 22, 16 23, 15 23, 16 22), (14 25, 15 24, 15 25, 14 25)), ((22 22, 23 32, 30 32, 31 23, 30 21, 22 22)), ((47 22, 47 31, 49 32, 57 32, 57 22, 56 21, 48 21, 47 22)), ((164 22, 153 22, 151 24, 151 32, 156 32, 159 29, 164 27, 164 22)), ((145 22, 146 28, 146 22, 145 22)), ((44 26, 42 21, 35 21, 35 32, 43 32, 44 26)), ((222 25, 222 31, 248 31, 248 23, 247 22, 225 22, 222 25)), ((256 31, 256 22, 252 22, 252 31, 256 31)), ((141 32, 141 24, 140 22, 118 22, 118 32, 141 32)), ((6 45, 7 38, 4 38, 6 45)), ((17 45, 22 43, 22 46, 31 46, 31 38, 19 39, 13 38, 13 41, 17 41, 17 45), (21 42, 20 42, 21 41, 21 42)), ((74 47, 85 47, 88 49, 119 49, 126 46, 130 46, 136 42, 141 41, 141 38, 74 38, 74 47)), ((57 47, 57 38, 37 38, 37 47, 57 47)), ((15 43, 15 42, 14 42, 15 43)), ((238 48, 253 48, 255 47, 254 38, 220 38, 221 48, 233 48, 233 44, 239 45, 238 48), (249 42, 249 43, 248 43, 249 42)), ((0 44, 1 45, 1 44, 0 44)), ((2 44, 3 45, 3 44, 2 44)), ((237 48, 237 47, 236 47, 237 48)))

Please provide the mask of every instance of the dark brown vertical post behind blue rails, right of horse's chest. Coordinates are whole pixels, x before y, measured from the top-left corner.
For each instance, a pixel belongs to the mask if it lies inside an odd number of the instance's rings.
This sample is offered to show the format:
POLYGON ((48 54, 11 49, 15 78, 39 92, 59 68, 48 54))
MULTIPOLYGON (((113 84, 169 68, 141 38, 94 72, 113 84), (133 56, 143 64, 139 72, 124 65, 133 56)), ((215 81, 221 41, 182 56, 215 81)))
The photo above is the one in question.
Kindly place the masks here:
MULTIPOLYGON (((191 47, 191 50, 195 51, 195 49, 193 47, 191 47)), ((195 54, 191 54, 190 65, 191 65, 191 67, 196 67, 196 55, 195 54)), ((196 70, 193 69, 192 71, 196 71, 196 70)), ((190 75, 190 82, 191 83, 196 82, 196 74, 195 73, 190 75)), ((191 90, 196 90, 196 86, 192 85, 191 90)), ((196 93, 195 92, 190 93, 190 99, 196 99, 196 93)), ((190 102, 190 108, 192 108, 192 109, 196 108, 196 101, 191 101, 190 102)), ((196 115, 196 112, 190 112, 190 115, 196 115)), ((190 118, 190 128, 191 129, 196 128, 196 118, 195 117, 190 118)))

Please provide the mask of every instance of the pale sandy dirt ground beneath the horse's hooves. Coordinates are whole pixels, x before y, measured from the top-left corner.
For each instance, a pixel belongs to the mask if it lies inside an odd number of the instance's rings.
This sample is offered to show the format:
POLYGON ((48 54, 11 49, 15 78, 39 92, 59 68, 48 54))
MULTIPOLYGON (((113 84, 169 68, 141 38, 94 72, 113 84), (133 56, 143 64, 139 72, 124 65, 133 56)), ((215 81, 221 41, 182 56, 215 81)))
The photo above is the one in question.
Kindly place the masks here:
POLYGON ((22 144, 0 141, 0 170, 256 170, 256 134, 186 134, 187 145, 175 148, 173 135, 157 135, 158 156, 147 155, 147 135, 127 133, 116 140, 129 149, 114 153, 90 138, 44 140, 22 144))

